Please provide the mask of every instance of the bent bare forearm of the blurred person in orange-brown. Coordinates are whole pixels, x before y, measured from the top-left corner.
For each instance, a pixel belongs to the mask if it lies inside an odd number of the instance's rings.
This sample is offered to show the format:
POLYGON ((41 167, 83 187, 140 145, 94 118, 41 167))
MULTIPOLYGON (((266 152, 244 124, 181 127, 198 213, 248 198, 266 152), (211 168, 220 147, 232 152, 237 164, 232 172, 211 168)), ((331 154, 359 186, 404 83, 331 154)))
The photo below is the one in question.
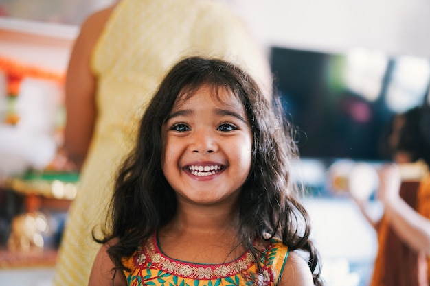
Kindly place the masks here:
POLYGON ((411 208, 399 194, 400 173, 396 165, 386 165, 380 171, 379 198, 385 217, 396 235, 417 252, 430 255, 430 220, 411 208))

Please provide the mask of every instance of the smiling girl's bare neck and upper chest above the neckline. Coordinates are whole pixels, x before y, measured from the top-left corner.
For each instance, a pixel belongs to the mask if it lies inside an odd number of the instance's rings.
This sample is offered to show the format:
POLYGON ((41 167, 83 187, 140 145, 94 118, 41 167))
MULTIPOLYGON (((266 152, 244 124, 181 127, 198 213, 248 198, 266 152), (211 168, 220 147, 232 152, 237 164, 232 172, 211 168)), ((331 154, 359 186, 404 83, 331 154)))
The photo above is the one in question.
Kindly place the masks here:
POLYGON ((164 254, 194 263, 225 263, 245 252, 238 241, 238 212, 231 208, 179 206, 158 239, 164 254))

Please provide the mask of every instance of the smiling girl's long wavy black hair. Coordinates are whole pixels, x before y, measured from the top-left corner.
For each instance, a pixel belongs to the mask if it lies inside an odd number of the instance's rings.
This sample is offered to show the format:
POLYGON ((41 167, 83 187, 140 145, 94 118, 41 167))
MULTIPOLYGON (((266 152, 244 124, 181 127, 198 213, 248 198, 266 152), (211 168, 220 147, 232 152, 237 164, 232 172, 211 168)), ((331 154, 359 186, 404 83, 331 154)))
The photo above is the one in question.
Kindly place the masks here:
POLYGON ((269 102, 247 73, 225 60, 185 58, 168 72, 144 113, 135 150, 118 172, 104 237, 95 240, 106 243, 115 237, 117 243, 108 253, 117 268, 124 269, 121 259, 131 257, 174 217, 177 198, 161 169, 161 128, 177 97, 190 96, 203 85, 231 91, 251 123, 251 171, 238 198, 242 246, 258 261, 256 239, 267 239, 267 234, 278 237, 290 251, 307 254, 315 285, 323 285, 319 253, 309 239, 308 213, 299 202, 302 187, 291 180, 298 160, 293 128, 284 119, 279 99, 274 96, 269 102))

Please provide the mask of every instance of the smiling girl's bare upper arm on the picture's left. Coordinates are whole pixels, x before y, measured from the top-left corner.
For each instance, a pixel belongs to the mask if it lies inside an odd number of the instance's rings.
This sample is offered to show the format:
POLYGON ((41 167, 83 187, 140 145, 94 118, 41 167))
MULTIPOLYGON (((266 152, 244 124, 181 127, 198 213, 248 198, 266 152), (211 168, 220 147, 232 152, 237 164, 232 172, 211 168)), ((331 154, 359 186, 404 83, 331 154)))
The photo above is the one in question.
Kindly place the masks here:
POLYGON ((89 286, 122 286, 127 285, 126 278, 120 270, 113 270, 115 264, 106 252, 109 244, 105 243, 100 248, 89 276, 89 286))

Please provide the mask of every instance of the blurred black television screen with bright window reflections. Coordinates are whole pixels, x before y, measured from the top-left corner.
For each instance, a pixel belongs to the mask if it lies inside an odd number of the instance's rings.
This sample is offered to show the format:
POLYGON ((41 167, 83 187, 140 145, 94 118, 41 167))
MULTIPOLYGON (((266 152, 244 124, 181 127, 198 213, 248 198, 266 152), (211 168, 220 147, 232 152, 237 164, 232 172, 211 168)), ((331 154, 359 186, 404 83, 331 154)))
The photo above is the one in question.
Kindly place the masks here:
POLYGON ((429 91, 428 59, 364 49, 272 47, 271 70, 302 157, 389 159, 381 143, 392 117, 423 104, 429 91))

